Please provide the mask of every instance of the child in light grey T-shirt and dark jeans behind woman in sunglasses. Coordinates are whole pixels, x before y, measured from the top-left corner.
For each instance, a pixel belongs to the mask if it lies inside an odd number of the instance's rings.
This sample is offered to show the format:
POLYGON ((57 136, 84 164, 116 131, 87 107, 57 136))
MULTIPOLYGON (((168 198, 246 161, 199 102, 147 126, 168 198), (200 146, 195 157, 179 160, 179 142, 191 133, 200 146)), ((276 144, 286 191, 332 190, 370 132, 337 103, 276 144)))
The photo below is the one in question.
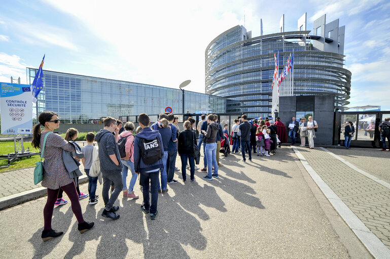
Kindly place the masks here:
POLYGON ((92 164, 92 153, 93 153, 93 141, 95 139, 95 134, 92 132, 87 133, 85 139, 87 140, 88 145, 81 148, 81 152, 83 152, 84 157, 81 158, 81 161, 84 165, 84 171, 85 174, 87 174, 88 177, 88 193, 89 193, 89 204, 96 204, 97 203, 97 197, 98 195, 95 195, 96 193, 96 186, 97 186, 97 177, 90 177, 89 176, 89 169, 91 168, 92 164))

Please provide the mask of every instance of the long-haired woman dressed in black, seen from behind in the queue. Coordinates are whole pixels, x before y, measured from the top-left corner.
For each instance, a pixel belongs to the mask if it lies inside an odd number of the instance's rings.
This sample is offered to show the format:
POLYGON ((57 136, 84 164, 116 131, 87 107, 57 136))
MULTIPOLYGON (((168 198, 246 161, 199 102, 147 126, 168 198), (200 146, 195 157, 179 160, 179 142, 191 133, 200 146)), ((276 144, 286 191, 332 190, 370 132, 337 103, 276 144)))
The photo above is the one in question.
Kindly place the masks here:
POLYGON ((191 130, 191 121, 184 122, 184 131, 179 134, 178 153, 182 160, 182 177, 183 182, 187 182, 186 165, 187 160, 190 162, 191 182, 195 181, 195 159, 192 156, 194 145, 196 145, 195 133, 191 130))

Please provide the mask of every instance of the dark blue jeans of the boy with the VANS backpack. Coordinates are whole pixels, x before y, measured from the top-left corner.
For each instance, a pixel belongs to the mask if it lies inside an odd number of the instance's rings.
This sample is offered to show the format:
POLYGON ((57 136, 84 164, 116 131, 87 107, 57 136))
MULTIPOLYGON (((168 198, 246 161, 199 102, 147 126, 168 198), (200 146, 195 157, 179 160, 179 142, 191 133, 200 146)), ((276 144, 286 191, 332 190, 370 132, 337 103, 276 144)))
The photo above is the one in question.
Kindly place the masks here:
MULTIPOLYGON (((173 166, 174 169, 174 166, 173 166)), ((142 184, 142 193, 144 196, 144 203, 146 209, 150 209, 150 213, 156 213, 157 211, 157 201, 158 201, 158 192, 157 185, 159 182, 159 171, 155 172, 141 172, 140 179, 142 184), (150 181, 150 190, 152 194, 152 201, 149 202, 149 181, 150 181)))

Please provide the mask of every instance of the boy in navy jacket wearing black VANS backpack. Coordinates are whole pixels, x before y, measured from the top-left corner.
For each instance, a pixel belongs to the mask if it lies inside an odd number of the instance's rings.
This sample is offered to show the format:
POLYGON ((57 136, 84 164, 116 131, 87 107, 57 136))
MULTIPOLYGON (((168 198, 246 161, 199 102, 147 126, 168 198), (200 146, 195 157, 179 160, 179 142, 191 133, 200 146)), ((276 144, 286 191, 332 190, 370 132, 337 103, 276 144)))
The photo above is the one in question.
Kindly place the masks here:
POLYGON ((164 148, 162 144, 161 135, 158 131, 152 130, 149 127, 150 119, 148 114, 141 113, 138 116, 139 126, 142 131, 135 135, 134 140, 134 169, 137 174, 140 175, 141 185, 143 186, 144 202, 141 205, 142 211, 146 214, 150 212, 151 220, 155 220, 157 217, 157 200, 158 200, 158 183, 159 172, 162 169, 162 157, 164 155, 164 148), (143 140, 144 139, 144 140, 143 140), (153 141, 156 140, 157 141, 153 141), (149 142, 148 142, 149 141, 149 142), (141 148, 141 145, 144 145, 141 148), (144 150, 157 150, 160 153, 160 159, 156 162, 145 163, 142 154, 144 150), (158 150, 159 149, 159 150, 158 150), (152 194, 152 200, 149 202, 149 181, 152 194))

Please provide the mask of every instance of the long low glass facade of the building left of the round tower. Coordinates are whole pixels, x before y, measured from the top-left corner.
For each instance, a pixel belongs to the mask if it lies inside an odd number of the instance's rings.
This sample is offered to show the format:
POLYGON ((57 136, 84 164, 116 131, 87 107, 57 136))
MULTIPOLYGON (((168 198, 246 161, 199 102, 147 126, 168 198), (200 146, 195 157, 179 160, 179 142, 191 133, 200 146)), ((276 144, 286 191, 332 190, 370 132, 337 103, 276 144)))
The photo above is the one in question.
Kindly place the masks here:
MULTIPOLYGON (((38 69, 27 68, 28 83, 38 69)), ((38 95, 37 114, 45 110, 59 114, 62 122, 88 123, 102 117, 159 114, 165 107, 182 113, 180 89, 54 71, 43 71, 44 88, 38 95)), ((184 92, 185 113, 226 112, 226 98, 184 92)))

